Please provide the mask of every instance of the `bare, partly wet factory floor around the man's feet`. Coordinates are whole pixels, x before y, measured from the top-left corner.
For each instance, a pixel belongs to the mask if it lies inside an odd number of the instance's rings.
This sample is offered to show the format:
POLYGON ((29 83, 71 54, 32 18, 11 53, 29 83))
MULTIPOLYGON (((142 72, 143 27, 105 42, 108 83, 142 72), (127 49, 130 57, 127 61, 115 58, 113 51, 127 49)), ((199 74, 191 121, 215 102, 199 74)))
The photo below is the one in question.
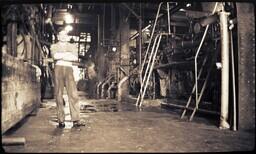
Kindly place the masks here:
POLYGON ((72 128, 68 108, 66 128, 57 128, 54 100, 45 100, 4 137, 25 137, 25 145, 3 146, 5 152, 226 152, 251 151, 255 132, 220 130, 209 119, 180 119, 180 111, 131 103, 81 98, 81 117, 72 128))

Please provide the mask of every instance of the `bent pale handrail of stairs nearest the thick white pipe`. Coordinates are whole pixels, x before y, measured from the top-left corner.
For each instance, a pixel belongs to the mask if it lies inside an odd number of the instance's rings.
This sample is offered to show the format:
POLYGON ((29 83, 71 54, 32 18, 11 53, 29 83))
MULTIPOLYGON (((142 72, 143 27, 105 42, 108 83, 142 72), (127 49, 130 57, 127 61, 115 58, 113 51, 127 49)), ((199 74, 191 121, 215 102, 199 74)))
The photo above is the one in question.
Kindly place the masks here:
MULTIPOLYGON (((213 9, 213 11, 212 11, 212 14, 214 14, 214 13, 215 13, 216 8, 217 8, 217 5, 218 5, 218 2, 216 2, 216 3, 215 3, 214 9, 213 9)), ((203 35, 203 37, 202 37, 202 40, 201 40, 201 42, 200 42, 200 45, 199 45, 199 47, 198 47, 198 49, 197 49, 197 52, 196 52, 196 55, 195 55, 196 109, 198 109, 198 103, 197 103, 197 101, 198 101, 198 86, 197 86, 197 57, 198 57, 199 51, 200 51, 200 49, 201 49, 201 47, 202 47, 202 45, 203 45, 203 42, 204 42, 204 39, 205 39, 205 36, 206 36, 206 34, 207 34, 208 29, 209 29, 209 24, 208 24, 208 25, 206 26, 206 28, 205 28, 204 35, 203 35)))

